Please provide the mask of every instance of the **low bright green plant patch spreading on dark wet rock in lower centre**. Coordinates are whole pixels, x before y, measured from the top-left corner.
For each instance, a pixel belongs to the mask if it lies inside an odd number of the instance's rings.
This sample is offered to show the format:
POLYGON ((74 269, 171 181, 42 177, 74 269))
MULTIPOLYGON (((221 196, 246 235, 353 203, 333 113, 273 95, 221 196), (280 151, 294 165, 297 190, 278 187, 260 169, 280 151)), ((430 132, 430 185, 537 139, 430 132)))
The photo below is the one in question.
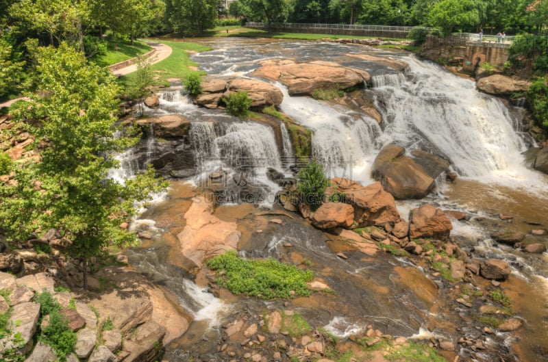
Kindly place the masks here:
POLYGON ((208 260, 206 265, 219 274, 216 283, 234 294, 262 299, 310 295, 306 283, 312 281, 312 270, 301 270, 275 259, 242 259, 231 250, 208 260))

